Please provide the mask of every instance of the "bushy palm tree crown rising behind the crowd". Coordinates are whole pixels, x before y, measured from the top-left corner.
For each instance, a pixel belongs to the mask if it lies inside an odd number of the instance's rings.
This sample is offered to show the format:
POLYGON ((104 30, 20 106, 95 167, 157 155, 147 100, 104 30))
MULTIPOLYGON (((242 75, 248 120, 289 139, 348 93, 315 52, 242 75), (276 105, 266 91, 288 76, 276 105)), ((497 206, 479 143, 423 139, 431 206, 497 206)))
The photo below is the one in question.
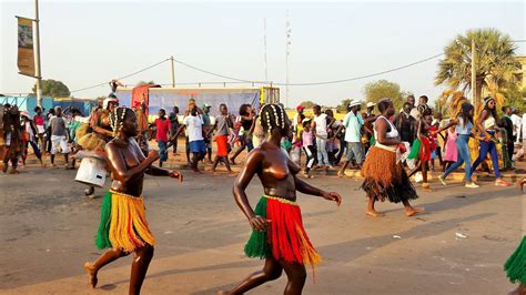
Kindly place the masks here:
POLYGON ((444 49, 444 59, 438 63, 435 84, 446 84, 451 90, 472 90, 472 40, 475 40, 476 85, 475 103, 482 95, 492 93, 502 105, 500 93, 514 84, 520 72, 516 59, 516 47, 507 34, 496 29, 468 30, 458 34, 444 49))

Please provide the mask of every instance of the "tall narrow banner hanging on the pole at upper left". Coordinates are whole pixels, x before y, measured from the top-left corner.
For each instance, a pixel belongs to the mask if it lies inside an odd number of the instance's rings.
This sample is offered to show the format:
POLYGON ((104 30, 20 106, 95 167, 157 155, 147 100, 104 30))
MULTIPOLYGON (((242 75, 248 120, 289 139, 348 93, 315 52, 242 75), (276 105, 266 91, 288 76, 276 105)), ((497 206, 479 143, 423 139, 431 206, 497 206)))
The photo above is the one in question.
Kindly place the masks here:
POLYGON ((18 70, 24 75, 34 77, 33 20, 18 18, 18 70))

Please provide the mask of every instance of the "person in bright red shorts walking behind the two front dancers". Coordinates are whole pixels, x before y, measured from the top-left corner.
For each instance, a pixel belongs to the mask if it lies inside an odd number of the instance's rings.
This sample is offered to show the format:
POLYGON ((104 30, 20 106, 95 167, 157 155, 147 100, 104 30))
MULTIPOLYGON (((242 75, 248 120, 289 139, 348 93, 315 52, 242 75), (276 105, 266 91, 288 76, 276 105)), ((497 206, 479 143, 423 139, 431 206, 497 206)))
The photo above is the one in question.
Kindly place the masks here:
POLYGON ((212 172, 215 172, 215 167, 218 166, 219 162, 223 161, 224 165, 226 166, 226 170, 229 171, 229 175, 234 176, 235 173, 230 167, 227 143, 229 132, 233 126, 233 122, 230 119, 229 108, 226 108, 226 104, 220 104, 220 112, 221 115, 218 115, 218 118, 215 118, 214 126, 210 129, 209 134, 206 134, 206 136, 210 138, 210 134, 215 130, 215 143, 218 144, 218 152, 215 153, 215 159, 212 165, 212 172))

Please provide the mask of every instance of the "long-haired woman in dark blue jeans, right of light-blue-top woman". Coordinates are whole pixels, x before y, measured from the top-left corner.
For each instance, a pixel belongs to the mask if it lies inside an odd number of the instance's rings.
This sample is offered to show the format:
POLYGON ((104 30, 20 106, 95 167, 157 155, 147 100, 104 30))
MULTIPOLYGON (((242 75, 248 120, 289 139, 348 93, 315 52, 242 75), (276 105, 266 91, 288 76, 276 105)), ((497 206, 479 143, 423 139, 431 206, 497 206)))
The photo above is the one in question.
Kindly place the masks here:
POLYGON ((477 160, 475 160, 475 163, 473 163, 471 174, 473 174, 482 161, 486 160, 486 156, 489 153, 492 156, 493 170, 495 171, 495 177, 497 179, 495 181, 495 185, 509 186, 509 183, 500 177, 500 171, 498 171, 497 146, 495 145, 494 141, 497 121, 498 116, 495 99, 487 96, 484 99, 484 110, 476 122, 478 132, 481 132, 481 136, 483 136, 483 139, 479 141, 481 150, 478 151, 477 160))

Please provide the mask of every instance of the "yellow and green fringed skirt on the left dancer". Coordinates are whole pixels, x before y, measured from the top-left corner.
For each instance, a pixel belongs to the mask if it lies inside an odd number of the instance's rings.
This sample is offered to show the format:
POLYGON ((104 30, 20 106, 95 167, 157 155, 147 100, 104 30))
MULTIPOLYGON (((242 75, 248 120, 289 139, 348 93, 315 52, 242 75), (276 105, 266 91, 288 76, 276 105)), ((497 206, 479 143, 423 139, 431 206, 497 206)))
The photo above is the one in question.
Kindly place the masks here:
POLYGON ((153 246, 155 237, 148 227, 143 197, 110 190, 102 201, 97 247, 131 253, 144 244, 153 246))

